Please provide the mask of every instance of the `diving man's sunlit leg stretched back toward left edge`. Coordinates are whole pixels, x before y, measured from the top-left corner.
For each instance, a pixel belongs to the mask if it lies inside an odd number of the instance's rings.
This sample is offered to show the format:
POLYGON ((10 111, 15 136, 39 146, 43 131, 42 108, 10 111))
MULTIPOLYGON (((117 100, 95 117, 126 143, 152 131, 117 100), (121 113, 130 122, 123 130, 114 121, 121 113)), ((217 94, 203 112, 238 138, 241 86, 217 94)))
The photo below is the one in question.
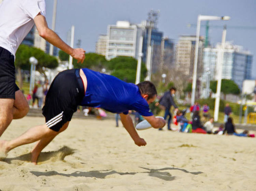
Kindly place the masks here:
POLYGON ((17 146, 32 143, 44 137, 56 136, 57 134, 58 132, 49 129, 46 124, 35 126, 28 129, 28 131, 26 131, 24 134, 20 135, 16 139, 13 139, 11 141, 5 141, 5 143, 4 141, 0 141, 0 151, 8 153, 17 146))

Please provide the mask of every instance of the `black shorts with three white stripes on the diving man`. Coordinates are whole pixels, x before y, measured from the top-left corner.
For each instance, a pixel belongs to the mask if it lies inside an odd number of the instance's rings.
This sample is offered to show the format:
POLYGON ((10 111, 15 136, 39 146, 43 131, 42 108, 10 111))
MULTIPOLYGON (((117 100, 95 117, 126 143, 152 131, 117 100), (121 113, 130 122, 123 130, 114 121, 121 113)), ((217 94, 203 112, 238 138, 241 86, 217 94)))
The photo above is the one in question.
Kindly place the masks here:
POLYGON ((64 70, 53 80, 45 98, 43 115, 48 128, 58 132, 70 121, 84 98, 84 84, 79 69, 64 70))

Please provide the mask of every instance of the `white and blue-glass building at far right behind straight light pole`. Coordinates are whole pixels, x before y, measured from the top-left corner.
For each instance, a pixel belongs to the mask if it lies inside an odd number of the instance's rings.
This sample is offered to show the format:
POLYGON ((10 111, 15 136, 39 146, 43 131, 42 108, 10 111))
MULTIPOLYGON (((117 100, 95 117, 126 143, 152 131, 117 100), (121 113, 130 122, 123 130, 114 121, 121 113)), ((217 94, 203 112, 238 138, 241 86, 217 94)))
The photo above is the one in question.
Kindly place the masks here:
MULTIPOLYGON (((206 81, 207 75, 210 76, 210 80, 217 80, 217 59, 220 49, 221 44, 217 44, 215 48, 204 49, 202 80, 206 81)), ((222 79, 233 80, 242 89, 243 81, 251 79, 252 59, 252 54, 244 51, 243 47, 226 42, 221 61, 222 79)))

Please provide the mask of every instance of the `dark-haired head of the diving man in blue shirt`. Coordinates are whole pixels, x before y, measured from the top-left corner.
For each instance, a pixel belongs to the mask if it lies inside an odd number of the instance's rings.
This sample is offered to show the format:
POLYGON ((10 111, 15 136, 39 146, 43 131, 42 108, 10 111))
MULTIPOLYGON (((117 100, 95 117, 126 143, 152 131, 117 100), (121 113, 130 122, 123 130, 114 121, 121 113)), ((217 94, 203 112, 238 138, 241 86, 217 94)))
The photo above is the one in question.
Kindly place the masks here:
POLYGON ((137 86, 140 89, 141 96, 147 101, 148 104, 154 102, 156 99, 157 91, 153 83, 150 81, 144 81, 137 84, 137 86))

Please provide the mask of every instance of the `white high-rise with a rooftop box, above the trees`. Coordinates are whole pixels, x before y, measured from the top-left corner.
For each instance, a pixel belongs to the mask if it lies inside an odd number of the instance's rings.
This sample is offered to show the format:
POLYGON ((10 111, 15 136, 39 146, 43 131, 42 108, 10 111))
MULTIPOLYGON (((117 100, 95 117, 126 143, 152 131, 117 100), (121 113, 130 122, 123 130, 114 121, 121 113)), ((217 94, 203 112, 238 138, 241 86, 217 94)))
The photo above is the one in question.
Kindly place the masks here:
POLYGON ((117 21, 116 25, 108 25, 106 42, 106 59, 116 56, 132 56, 137 58, 137 33, 139 28, 136 24, 128 21, 117 21))

